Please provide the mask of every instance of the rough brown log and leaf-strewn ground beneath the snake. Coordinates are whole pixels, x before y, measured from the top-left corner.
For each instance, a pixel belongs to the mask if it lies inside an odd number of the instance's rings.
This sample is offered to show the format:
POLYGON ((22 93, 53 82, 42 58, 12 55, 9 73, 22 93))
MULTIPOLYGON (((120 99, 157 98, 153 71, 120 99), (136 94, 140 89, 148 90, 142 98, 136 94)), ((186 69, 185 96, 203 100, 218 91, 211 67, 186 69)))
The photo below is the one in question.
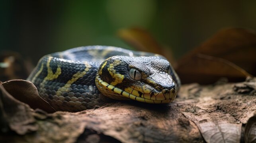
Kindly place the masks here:
POLYGON ((256 78, 182 85, 170 104, 109 100, 82 112, 51 114, 14 99, 8 83, 0 87, 0 141, 236 143, 256 137, 256 78))

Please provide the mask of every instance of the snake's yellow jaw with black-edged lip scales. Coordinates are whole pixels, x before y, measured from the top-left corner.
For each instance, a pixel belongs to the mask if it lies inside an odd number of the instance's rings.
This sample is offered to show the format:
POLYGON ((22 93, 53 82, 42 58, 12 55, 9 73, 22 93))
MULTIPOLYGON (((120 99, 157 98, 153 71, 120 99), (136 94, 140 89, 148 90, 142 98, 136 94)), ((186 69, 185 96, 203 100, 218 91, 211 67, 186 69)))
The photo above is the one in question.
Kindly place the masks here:
POLYGON ((155 88, 152 88, 149 85, 135 85, 127 87, 125 89, 120 89, 115 87, 105 81, 103 81, 99 75, 96 76, 96 86, 105 96, 118 99, 118 100, 137 100, 139 102, 160 104, 160 103, 169 103, 172 102, 176 95, 177 91, 175 88, 172 89, 163 89, 158 91, 155 88), (147 87, 147 88, 145 88, 147 87), (144 93, 144 91, 147 91, 144 93), (148 92, 150 91, 150 92, 148 92))

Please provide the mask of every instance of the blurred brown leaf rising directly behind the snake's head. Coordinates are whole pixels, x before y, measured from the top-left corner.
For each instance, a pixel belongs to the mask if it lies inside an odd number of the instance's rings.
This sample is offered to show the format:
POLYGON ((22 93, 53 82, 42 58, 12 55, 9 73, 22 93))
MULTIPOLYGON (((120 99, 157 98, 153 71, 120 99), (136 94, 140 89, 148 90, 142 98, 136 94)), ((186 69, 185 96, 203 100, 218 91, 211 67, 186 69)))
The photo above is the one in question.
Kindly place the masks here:
POLYGON ((117 32, 117 35, 137 50, 163 55, 172 64, 175 64, 170 48, 160 45, 146 30, 140 28, 121 29, 117 32))

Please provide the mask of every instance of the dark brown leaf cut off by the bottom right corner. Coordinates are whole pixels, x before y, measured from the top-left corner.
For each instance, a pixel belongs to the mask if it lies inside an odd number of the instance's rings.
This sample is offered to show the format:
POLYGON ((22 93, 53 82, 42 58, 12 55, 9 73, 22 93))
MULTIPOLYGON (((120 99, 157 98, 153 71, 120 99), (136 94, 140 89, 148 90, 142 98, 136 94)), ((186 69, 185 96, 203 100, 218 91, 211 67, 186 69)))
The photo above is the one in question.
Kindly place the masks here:
POLYGON ((245 143, 256 143, 256 112, 245 126, 244 141, 245 143))

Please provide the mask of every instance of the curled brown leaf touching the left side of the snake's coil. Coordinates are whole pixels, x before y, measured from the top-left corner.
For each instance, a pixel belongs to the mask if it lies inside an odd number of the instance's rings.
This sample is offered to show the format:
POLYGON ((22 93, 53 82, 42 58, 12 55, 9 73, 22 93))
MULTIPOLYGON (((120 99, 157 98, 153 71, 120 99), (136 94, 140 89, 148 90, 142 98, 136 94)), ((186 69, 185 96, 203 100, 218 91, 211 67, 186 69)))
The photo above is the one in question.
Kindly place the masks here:
POLYGON ((40 108, 48 113, 55 112, 55 109, 39 96, 37 88, 30 81, 10 80, 2 83, 2 85, 15 99, 28 104, 31 108, 40 108))

